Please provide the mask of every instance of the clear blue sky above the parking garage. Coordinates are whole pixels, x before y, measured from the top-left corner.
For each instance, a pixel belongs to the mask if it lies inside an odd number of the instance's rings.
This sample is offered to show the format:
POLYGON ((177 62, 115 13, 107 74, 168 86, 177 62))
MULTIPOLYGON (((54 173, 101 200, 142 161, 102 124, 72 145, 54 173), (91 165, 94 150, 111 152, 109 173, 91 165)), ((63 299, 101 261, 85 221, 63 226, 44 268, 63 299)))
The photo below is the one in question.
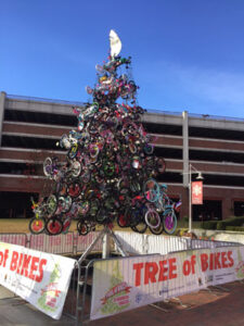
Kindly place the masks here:
POLYGON ((0 90, 87 101, 112 28, 141 106, 244 118, 243 0, 0 0, 0 90))

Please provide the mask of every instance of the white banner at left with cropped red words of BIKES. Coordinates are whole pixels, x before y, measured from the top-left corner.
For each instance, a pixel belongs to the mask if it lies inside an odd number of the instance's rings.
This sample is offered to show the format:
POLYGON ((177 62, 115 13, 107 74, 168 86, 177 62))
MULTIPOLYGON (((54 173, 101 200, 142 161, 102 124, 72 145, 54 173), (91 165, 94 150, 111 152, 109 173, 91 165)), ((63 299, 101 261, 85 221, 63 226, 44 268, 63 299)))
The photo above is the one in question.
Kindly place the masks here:
POLYGON ((0 242, 0 284, 59 319, 75 262, 61 255, 0 242))

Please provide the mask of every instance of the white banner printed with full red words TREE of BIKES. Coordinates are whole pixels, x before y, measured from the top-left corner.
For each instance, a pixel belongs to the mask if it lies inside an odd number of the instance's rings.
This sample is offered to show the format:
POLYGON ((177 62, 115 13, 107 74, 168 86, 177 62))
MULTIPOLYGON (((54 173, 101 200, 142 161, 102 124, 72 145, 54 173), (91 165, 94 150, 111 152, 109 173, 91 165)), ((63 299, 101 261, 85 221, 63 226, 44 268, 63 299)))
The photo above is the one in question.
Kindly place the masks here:
POLYGON ((91 319, 244 278, 244 247, 94 262, 91 319))

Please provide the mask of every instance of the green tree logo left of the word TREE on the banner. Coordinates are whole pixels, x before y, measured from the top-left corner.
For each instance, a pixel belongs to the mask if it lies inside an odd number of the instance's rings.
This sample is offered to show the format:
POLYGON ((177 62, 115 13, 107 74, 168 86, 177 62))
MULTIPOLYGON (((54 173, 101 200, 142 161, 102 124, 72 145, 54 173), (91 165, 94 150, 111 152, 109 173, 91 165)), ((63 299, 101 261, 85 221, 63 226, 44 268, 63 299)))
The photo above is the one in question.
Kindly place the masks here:
POLYGON ((102 314, 118 313, 130 305, 130 297, 128 293, 130 292, 131 287, 123 279, 118 265, 119 262, 117 261, 115 264, 111 277, 111 288, 101 299, 102 314))

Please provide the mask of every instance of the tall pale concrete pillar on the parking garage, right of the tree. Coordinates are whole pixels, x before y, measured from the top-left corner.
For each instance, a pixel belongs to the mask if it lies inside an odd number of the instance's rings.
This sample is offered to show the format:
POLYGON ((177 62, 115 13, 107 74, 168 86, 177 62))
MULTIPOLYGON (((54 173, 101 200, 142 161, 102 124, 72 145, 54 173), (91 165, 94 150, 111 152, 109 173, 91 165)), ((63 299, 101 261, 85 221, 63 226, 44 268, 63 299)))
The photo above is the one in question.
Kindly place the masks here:
POLYGON ((182 136, 183 136, 183 187, 189 187, 189 122, 188 111, 182 112, 182 136))

